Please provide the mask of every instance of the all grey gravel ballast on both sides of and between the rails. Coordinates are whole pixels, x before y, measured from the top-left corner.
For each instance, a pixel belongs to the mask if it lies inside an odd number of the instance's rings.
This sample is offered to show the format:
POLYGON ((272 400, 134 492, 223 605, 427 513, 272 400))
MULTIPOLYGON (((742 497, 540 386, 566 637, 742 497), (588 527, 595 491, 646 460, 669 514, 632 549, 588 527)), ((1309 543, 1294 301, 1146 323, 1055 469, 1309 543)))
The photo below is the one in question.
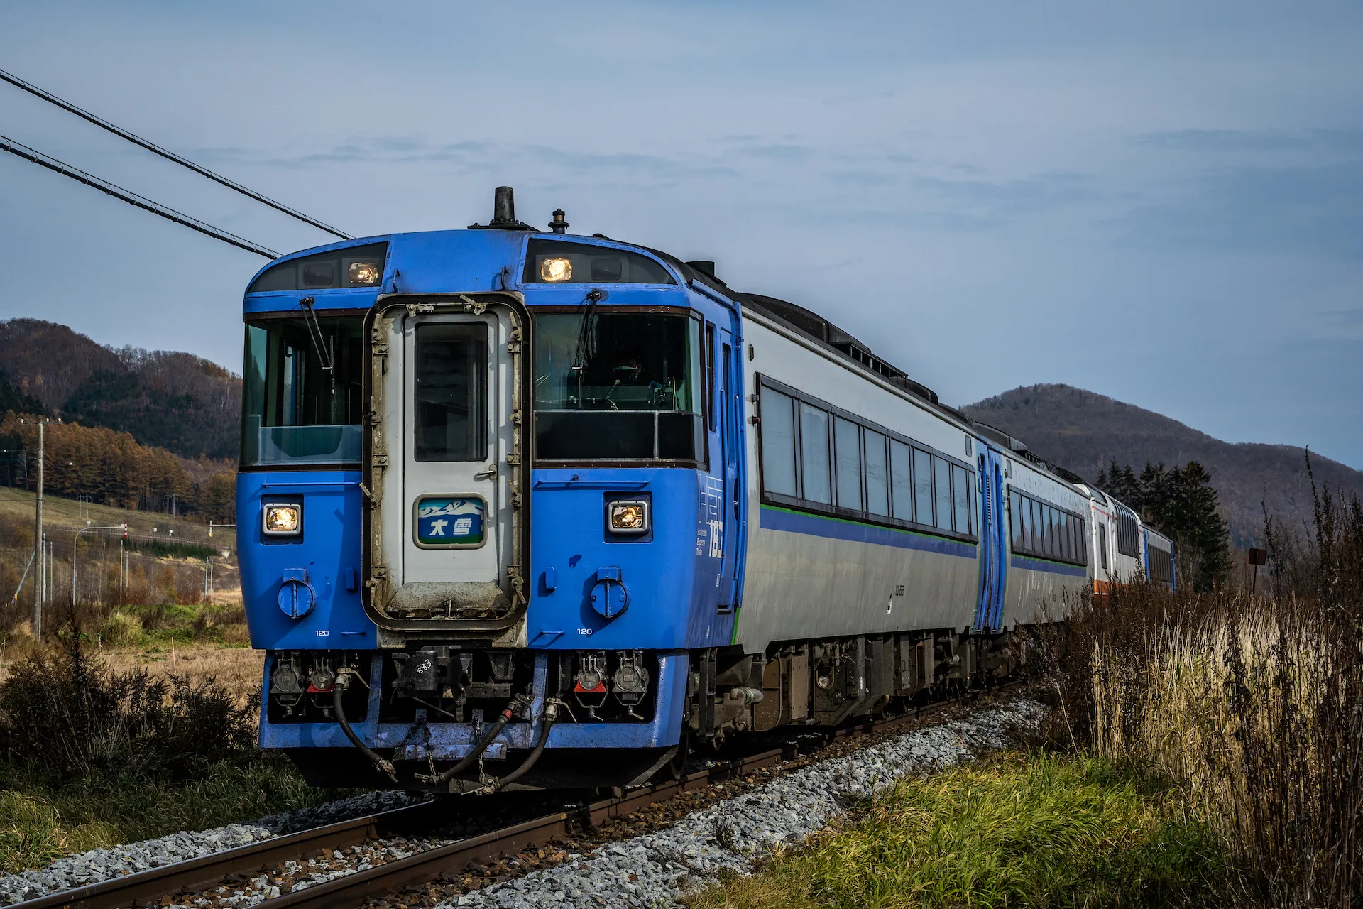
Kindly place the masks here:
MULTIPOLYGON (((932 773, 1015 744, 1018 736, 1014 733, 1035 728, 1043 711, 1044 707, 1036 702, 1017 699, 992 707, 981 706, 960 720, 891 735, 841 756, 777 771, 778 775, 770 781, 754 784, 740 795, 687 814, 665 829, 590 849, 579 844, 581 852, 577 853, 571 844, 567 845, 568 852, 551 849, 555 853, 551 856, 553 867, 500 883, 489 882, 439 905, 497 909, 672 906, 679 894, 713 882, 721 869, 746 874, 773 848, 801 842, 844 814, 853 800, 872 795, 898 777, 932 773)), ((68 856, 37 871, 0 878, 0 906, 409 803, 410 799, 401 792, 365 793, 252 823, 176 833, 68 856)), ((455 834, 454 838, 459 835, 469 833, 455 834)), ((281 889, 288 893, 316 886, 447 841, 442 835, 365 844, 318 860, 286 863, 288 867, 267 875, 243 875, 206 893, 183 895, 176 905, 249 906, 279 895, 281 889)), ((432 894, 416 905, 429 906, 439 898, 439 894, 432 894)))

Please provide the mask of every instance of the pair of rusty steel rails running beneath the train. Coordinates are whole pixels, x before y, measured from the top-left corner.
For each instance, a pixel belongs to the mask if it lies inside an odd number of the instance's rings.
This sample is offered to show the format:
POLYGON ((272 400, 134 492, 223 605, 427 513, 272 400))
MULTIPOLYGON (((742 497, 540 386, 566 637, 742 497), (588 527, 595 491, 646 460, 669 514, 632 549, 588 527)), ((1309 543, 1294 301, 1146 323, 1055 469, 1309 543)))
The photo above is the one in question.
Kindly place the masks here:
MULTIPOLYGON (((1024 685, 1009 683, 991 692, 1024 685)), ((585 805, 575 805, 544 814, 527 820, 476 835, 463 837, 421 852, 394 859, 384 864, 354 871, 343 876, 315 883, 290 893, 254 904, 254 909, 285 909, 308 906, 315 909, 361 906, 365 902, 416 887, 442 878, 455 876, 469 868, 484 865, 506 853, 542 846, 549 841, 571 835, 585 827, 597 827, 615 818, 623 818, 650 804, 667 801, 679 795, 703 789, 711 784, 746 777, 763 767, 773 767, 800 756, 818 754, 830 744, 849 737, 867 737, 895 732, 901 726, 950 707, 972 703, 977 695, 964 699, 924 705, 910 713, 887 720, 867 721, 799 741, 785 741, 780 747, 716 763, 691 773, 683 780, 661 782, 627 790, 585 805)), ((510 795, 510 793, 508 793, 510 795)), ((113 878, 98 883, 48 894, 12 909, 124 909, 129 906, 162 906, 184 904, 192 894, 219 887, 230 879, 269 872, 281 863, 309 856, 327 856, 371 842, 413 834, 429 835, 432 827, 448 820, 450 805, 440 800, 418 803, 339 823, 313 827, 292 834, 254 842, 226 852, 179 861, 147 871, 113 878), (168 902, 166 898, 170 898, 168 902)))

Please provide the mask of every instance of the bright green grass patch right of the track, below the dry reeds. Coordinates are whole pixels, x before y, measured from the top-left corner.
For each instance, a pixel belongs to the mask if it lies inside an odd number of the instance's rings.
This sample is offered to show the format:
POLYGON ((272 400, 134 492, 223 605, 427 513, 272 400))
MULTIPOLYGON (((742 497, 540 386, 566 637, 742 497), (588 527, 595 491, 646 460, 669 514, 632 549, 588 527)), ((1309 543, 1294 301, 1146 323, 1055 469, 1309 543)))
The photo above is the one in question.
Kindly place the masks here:
POLYGON ((1090 756, 1003 755, 905 780, 695 909, 1180 906, 1214 902, 1220 841, 1167 785, 1090 756))

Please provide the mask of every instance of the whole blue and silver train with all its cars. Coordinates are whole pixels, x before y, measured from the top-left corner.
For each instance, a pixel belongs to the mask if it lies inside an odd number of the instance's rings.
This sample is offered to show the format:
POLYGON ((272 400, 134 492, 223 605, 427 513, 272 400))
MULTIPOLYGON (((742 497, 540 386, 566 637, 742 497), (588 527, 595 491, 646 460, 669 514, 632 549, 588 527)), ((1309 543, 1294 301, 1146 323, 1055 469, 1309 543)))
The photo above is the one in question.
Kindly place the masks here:
POLYGON ((319 785, 630 785, 1014 672, 1167 538, 822 316, 493 218, 245 293, 260 744, 319 785))

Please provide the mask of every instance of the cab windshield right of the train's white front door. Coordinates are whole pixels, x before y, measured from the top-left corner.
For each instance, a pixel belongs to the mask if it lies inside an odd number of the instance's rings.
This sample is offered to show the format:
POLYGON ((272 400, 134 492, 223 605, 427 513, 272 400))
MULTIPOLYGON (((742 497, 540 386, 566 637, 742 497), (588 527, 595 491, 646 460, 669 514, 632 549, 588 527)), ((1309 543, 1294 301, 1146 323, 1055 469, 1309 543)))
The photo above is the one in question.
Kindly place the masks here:
POLYGON ((701 323, 684 313, 538 313, 536 457, 696 462, 701 323))

